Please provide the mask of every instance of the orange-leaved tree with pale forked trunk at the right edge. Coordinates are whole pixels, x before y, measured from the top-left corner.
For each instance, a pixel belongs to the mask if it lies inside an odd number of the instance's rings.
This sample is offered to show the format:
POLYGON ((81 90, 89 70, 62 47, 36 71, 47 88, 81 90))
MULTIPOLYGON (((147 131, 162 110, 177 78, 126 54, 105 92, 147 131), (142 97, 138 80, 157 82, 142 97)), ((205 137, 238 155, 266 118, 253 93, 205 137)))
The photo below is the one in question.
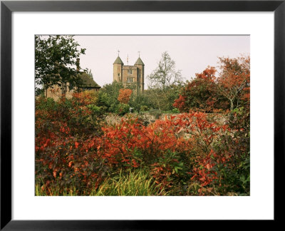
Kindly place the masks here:
POLYGON ((250 90, 250 58, 219 58, 221 72, 217 78, 219 92, 226 97, 231 105, 231 111, 234 109, 234 103, 243 99, 249 104, 250 90))

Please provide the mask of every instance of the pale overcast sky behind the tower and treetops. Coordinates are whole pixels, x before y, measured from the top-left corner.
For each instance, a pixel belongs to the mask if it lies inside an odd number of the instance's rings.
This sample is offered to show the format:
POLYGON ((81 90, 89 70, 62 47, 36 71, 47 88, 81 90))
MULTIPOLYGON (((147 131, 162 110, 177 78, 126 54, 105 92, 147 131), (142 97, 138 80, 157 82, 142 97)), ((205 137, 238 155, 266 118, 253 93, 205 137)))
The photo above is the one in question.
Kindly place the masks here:
POLYGON ((170 54, 185 80, 207 66, 217 66, 217 57, 234 58, 250 52, 249 36, 75 36, 75 39, 81 48, 86 48, 86 54, 81 56, 81 67, 91 69, 100 86, 112 83, 118 50, 125 65, 133 65, 140 51, 145 63, 146 88, 147 75, 157 67, 164 51, 170 54))

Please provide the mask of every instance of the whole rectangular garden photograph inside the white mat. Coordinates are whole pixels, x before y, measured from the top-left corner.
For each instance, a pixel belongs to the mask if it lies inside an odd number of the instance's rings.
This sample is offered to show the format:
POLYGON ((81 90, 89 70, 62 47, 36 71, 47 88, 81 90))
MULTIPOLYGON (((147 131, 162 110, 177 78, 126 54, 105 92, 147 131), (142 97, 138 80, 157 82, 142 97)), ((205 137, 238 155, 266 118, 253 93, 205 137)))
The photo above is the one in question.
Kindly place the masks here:
POLYGON ((250 36, 34 36, 36 196, 249 196, 250 36))

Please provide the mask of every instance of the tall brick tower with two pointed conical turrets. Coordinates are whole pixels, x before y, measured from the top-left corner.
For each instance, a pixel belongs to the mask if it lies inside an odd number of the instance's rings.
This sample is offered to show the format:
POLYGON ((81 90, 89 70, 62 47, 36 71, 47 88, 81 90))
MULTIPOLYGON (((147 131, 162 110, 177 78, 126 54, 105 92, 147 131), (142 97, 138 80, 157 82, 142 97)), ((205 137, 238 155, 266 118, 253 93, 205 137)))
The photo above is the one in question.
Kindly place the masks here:
POLYGON ((120 56, 113 63, 113 81, 123 84, 134 83, 137 85, 138 92, 145 90, 145 64, 140 56, 133 66, 125 66, 120 56))

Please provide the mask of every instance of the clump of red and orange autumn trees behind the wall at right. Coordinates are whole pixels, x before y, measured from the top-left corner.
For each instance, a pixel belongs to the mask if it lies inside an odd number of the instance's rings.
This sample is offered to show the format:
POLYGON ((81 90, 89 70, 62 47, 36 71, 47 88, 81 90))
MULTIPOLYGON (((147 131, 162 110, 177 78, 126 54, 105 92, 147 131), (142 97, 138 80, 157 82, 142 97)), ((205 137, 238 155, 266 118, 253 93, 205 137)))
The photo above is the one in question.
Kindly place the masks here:
POLYGON ((208 66, 182 89, 173 106, 180 111, 216 113, 249 108, 250 58, 219 58, 219 73, 208 66))

